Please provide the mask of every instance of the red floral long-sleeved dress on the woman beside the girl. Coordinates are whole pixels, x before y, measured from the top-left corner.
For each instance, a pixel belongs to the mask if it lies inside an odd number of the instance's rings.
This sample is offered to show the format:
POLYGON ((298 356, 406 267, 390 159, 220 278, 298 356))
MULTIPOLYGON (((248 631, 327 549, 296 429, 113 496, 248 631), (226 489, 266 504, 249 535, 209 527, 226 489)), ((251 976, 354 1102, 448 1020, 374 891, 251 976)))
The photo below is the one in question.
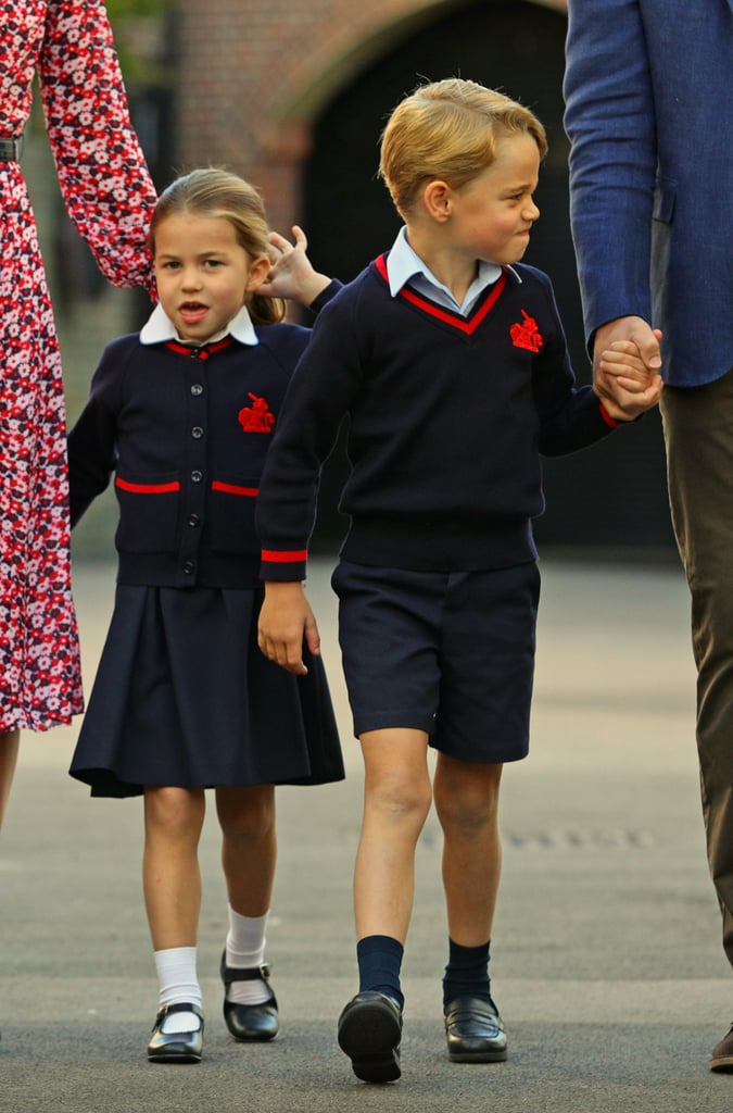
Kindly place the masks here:
MULTIPOLYGON (((155 190, 130 125, 103 0, 0 0, 0 136, 38 72, 68 211, 105 277, 147 285, 155 190)), ((18 162, 0 161, 0 731, 82 710, 69 568, 59 347, 18 162)))

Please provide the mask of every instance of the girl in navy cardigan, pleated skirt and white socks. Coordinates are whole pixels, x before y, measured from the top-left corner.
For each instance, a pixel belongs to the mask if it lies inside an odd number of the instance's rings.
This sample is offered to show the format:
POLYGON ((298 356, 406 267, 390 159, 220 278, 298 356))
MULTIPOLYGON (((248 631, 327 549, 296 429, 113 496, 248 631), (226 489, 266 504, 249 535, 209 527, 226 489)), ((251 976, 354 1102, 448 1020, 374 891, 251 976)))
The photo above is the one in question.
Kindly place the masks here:
POLYGON ((309 338, 261 292, 317 311, 338 288, 310 267, 299 229, 295 248, 274 239, 285 259, 268 283, 267 220, 251 186, 217 169, 169 186, 150 229, 159 305, 139 334, 107 346, 69 435, 72 523, 112 473, 120 511, 115 610, 70 772, 92 796, 143 796, 160 991, 151 1062, 201 1057, 205 789, 216 790, 229 902, 225 1021, 235 1040, 271 1040, 274 786, 344 776, 320 660, 296 679, 257 648, 257 487, 309 338))

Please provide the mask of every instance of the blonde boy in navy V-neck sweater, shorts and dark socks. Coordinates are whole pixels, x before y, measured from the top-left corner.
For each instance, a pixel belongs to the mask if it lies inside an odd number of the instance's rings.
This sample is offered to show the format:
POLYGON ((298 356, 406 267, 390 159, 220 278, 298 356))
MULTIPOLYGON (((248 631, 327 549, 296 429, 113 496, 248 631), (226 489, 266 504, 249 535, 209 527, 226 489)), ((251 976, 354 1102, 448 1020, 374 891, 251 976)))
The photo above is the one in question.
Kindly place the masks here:
POLYGON ((319 471, 348 415, 340 510, 351 522, 333 583, 366 781, 359 992, 338 1042, 367 1082, 400 1074, 399 972, 432 801, 444 835, 448 1055, 506 1058, 488 955, 502 768, 528 748, 541 454, 598 441, 661 391, 631 345, 606 355, 627 366, 626 378, 608 376, 614 401, 575 386, 549 279, 518 263, 545 151, 531 111, 473 81, 426 85, 397 106, 380 174, 405 227, 323 311, 260 485, 260 649, 303 673, 304 639, 318 650, 303 580, 319 471))

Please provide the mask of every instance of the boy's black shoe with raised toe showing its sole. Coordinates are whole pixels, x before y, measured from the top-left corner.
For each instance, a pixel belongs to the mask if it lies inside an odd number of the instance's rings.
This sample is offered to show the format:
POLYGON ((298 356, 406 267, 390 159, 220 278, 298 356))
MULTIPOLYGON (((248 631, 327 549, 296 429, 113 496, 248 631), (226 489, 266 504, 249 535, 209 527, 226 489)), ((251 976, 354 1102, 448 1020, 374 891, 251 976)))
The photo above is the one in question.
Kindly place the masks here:
POLYGON ((338 1018, 338 1046, 363 1082, 397 1081, 402 1035, 399 1005, 376 989, 357 993, 338 1018))

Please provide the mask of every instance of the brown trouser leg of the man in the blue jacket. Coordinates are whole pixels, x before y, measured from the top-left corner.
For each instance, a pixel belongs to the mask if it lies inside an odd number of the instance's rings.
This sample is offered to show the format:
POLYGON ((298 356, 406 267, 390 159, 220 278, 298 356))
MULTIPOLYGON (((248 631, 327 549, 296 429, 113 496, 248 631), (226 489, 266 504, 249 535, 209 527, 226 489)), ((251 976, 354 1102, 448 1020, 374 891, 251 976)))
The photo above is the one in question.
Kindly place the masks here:
POLYGON ((662 398, 672 521, 692 593, 707 860, 733 966, 733 371, 662 398))

